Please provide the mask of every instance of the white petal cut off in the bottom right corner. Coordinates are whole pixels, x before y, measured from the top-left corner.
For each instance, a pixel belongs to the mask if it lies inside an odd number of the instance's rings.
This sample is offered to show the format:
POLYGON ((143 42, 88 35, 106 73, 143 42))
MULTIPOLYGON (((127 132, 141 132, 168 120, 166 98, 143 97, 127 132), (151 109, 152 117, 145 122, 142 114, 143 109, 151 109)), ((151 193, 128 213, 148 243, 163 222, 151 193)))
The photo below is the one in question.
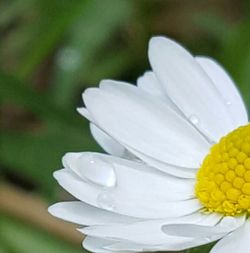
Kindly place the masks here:
POLYGON ((250 221, 220 240, 210 253, 246 253, 250 249, 250 221))

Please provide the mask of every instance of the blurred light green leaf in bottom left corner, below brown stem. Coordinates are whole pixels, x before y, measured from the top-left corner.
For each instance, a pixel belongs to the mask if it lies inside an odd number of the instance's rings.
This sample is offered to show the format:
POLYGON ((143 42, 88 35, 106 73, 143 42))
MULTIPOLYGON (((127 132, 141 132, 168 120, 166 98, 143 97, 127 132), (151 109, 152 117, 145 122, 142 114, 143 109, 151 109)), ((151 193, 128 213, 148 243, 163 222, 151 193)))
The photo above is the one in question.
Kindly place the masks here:
MULTIPOLYGON (((21 204, 21 203, 20 203, 21 204)), ((11 251, 8 253, 81 253, 84 249, 71 246, 49 234, 0 213, 0 238, 11 251)), ((0 251, 1 252, 1 251, 0 251)), ((4 253, 7 253, 3 251, 4 253)))

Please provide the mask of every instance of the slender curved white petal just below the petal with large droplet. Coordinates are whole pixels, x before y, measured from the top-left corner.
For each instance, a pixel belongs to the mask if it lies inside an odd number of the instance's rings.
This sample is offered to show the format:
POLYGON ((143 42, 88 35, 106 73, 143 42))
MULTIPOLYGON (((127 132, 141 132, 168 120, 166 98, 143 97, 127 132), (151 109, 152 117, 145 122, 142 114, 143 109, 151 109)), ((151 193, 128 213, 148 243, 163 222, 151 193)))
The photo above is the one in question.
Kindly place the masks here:
MULTIPOLYGON (((158 202, 158 205, 149 203, 149 198, 138 202, 138 198, 132 196, 121 198, 121 191, 96 187, 80 180, 70 170, 61 170, 54 173, 59 184, 70 194, 90 205, 110 210, 123 215, 138 218, 162 218, 171 216, 183 216, 200 209, 200 203, 196 199, 185 201, 158 202), (125 201, 126 200, 126 201, 125 201)), ((146 196, 146 193, 145 193, 146 196)), ((157 201, 153 201, 153 203, 157 201)))

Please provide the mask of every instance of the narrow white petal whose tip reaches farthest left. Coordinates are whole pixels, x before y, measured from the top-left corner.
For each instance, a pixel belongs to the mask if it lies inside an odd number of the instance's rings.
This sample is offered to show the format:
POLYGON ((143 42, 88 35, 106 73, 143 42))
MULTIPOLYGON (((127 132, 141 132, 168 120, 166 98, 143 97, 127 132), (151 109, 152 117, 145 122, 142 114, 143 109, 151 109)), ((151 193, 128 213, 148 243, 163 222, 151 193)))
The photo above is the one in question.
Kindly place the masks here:
POLYGON ((109 212, 80 201, 56 203, 50 206, 48 211, 57 218, 87 226, 139 221, 139 219, 109 212))

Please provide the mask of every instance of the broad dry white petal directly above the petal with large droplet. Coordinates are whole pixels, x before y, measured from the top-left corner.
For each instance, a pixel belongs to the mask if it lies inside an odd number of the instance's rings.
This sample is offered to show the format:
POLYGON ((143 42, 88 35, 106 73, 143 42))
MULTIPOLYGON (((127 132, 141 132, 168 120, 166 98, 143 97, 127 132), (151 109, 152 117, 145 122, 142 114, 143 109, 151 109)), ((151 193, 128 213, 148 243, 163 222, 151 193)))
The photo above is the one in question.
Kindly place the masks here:
POLYGON ((88 89, 83 97, 98 126, 124 146, 190 168, 208 153, 210 145, 196 129, 137 87, 107 81, 106 89, 88 89))

